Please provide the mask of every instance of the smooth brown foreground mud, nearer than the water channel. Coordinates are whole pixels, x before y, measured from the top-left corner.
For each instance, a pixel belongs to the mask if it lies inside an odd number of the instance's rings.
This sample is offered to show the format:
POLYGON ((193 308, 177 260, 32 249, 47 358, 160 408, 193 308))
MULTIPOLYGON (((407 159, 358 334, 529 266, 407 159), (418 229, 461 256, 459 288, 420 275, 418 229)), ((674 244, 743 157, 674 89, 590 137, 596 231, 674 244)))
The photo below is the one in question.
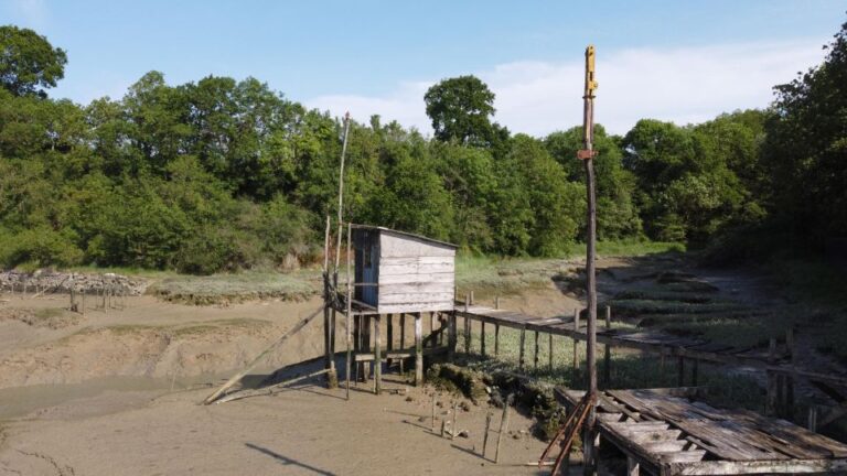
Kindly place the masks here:
MULTIPOLYGON (((536 474, 544 443, 512 412, 501 463, 497 433, 480 455, 486 409, 460 410, 468 439, 431 431, 431 389, 375 397, 305 385, 275 397, 197 405, 208 390, 105 392, 6 423, 0 474, 536 474), (408 401, 410 400, 410 401, 408 401)), ((448 396, 439 396, 449 400, 448 396)), ((443 410, 438 409, 437 428, 443 410)), ((495 410, 493 426, 500 424, 495 410)))

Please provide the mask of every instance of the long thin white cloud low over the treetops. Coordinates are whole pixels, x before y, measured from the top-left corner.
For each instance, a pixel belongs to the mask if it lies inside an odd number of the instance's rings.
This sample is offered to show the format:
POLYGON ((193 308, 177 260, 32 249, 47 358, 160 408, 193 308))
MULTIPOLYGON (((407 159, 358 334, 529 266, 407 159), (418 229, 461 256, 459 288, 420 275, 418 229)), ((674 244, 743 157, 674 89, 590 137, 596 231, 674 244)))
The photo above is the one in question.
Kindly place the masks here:
MULTIPOLYGON (((823 61, 826 39, 803 39, 673 50, 598 51, 597 121, 625 133, 639 119, 680 125, 736 109, 763 108, 772 87, 823 61)), ((581 53, 581 52, 580 52, 581 53)), ((544 136, 582 120, 582 58, 514 62, 471 72, 496 94, 495 120, 513 132, 544 136)), ((424 93, 440 78, 407 82, 385 96, 328 95, 308 106, 366 121, 377 113, 431 132, 424 93)))

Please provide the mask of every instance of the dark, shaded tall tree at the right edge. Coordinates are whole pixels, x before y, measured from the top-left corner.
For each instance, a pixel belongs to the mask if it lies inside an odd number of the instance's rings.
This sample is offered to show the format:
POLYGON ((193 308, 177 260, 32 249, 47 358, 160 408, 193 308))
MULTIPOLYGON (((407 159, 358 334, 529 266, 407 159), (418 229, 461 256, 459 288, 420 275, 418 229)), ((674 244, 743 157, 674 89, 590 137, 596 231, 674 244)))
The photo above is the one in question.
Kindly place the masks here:
POLYGON ((847 23, 823 64, 776 86, 763 163, 773 212, 818 244, 847 235, 847 23))

